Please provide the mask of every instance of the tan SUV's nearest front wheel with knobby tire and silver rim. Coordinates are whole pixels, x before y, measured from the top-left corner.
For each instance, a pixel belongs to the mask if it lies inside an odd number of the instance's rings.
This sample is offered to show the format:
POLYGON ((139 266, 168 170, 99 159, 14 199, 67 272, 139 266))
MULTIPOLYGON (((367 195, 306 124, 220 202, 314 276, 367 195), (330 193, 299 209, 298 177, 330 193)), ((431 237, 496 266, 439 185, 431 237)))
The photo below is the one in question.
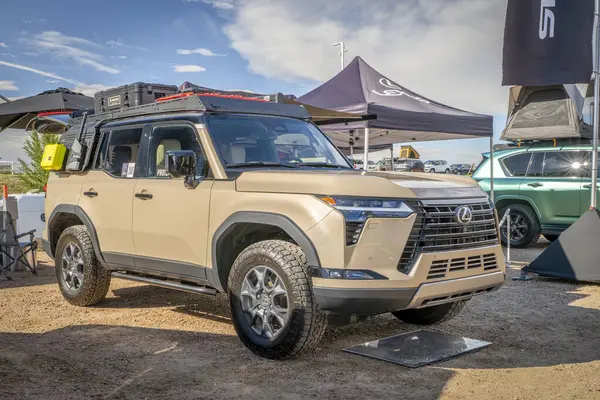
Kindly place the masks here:
POLYGON ((323 336, 325 314, 313 295, 306 255, 294 243, 266 240, 243 250, 228 293, 240 340, 261 357, 294 357, 323 336))

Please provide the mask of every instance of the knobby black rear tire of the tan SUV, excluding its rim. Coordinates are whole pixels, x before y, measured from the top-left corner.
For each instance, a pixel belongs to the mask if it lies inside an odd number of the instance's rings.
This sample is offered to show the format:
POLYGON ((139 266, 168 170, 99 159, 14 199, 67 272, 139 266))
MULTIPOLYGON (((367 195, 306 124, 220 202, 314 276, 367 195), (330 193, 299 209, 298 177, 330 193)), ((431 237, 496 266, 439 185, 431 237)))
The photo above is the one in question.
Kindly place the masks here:
POLYGON ((91 306, 102 300, 110 286, 110 272, 104 268, 94 252, 92 240, 84 225, 71 226, 63 231, 58 239, 55 252, 56 279, 60 291, 69 303, 75 306, 91 306), (76 293, 65 287, 61 270, 62 254, 67 244, 75 242, 83 253, 83 284, 76 293))

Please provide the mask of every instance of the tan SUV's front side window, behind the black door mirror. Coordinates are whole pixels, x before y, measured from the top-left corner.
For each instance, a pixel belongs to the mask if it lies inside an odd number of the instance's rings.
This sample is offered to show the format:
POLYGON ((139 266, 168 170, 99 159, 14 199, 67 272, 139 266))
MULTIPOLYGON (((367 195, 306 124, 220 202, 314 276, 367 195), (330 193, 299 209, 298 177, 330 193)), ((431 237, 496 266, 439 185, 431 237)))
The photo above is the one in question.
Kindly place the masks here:
POLYGON ((148 177, 167 177, 167 152, 191 150, 196 153, 196 175, 206 176, 205 157, 198 142, 196 131, 191 126, 156 127, 152 131, 149 147, 148 177))

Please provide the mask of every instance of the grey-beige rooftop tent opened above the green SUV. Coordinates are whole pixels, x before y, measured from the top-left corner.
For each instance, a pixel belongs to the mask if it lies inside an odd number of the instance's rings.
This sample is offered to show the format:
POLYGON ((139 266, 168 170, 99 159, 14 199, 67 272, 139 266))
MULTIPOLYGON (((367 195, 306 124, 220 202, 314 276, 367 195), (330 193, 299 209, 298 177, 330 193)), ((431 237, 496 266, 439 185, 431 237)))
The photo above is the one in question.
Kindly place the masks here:
POLYGON ((582 122, 584 100, 576 85, 513 86, 501 139, 591 137, 582 122))

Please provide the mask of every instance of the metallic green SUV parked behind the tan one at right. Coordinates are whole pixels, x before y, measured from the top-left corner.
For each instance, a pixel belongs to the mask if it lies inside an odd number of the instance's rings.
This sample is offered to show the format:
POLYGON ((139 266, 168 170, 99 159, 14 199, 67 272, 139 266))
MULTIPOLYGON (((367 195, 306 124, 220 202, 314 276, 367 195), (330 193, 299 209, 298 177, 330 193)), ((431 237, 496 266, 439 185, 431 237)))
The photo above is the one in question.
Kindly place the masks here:
MULTIPOLYGON (((499 215, 510 208, 510 243, 527 247, 540 234, 550 241, 590 207, 591 146, 514 147, 494 152, 494 196, 499 215)), ((490 191, 489 154, 473 173, 490 191)), ((501 231, 506 245, 506 229, 501 231)))

